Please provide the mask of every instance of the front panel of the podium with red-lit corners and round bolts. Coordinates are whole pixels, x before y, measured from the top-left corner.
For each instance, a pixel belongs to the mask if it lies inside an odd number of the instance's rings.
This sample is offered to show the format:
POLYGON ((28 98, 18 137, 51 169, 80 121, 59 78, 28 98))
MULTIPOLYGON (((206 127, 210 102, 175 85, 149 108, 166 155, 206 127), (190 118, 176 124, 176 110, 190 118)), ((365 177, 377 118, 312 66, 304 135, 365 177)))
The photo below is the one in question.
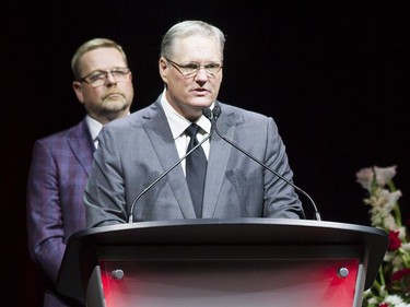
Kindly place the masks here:
POLYGON ((358 259, 101 260, 106 307, 353 306, 358 259))

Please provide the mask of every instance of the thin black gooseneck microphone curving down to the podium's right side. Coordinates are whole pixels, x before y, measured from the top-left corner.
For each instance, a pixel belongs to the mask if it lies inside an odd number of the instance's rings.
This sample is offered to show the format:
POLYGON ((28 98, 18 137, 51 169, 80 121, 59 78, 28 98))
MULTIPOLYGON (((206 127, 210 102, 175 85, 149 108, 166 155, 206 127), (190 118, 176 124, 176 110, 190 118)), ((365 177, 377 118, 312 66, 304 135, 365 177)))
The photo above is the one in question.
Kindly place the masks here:
MULTIPOLYGON (((255 161, 256 163, 258 163, 259 165, 261 165, 265 169, 268 169, 270 173, 272 173, 273 175, 278 176, 281 180, 285 181, 288 185, 291 185, 296 191, 298 191, 300 193, 302 193, 305 198, 308 199, 308 201, 312 203, 312 206, 314 209, 314 213, 315 213, 315 220, 316 221, 321 221, 320 219, 320 213, 319 211, 317 210, 317 206, 316 206, 316 203, 314 202, 314 200, 312 199, 312 197, 305 192, 304 190, 302 190, 300 187, 297 187, 296 185, 294 185, 293 182, 291 182, 290 180, 288 180, 286 178, 284 178, 282 175, 280 175, 278 172, 274 172, 273 169, 271 169, 268 165, 266 165, 265 163, 262 163, 261 161, 259 161, 258 158, 256 158, 255 156, 253 156, 250 153, 246 152, 244 149, 242 149, 239 145, 235 144, 234 142, 232 142, 231 140, 226 139, 225 137, 223 137, 220 131, 216 129, 216 119, 219 118, 219 116, 221 115, 221 107, 220 106, 214 106, 213 110, 211 110, 210 108, 207 108, 203 110, 203 115, 211 121, 211 127, 213 127, 213 131, 216 132, 216 134, 222 139, 224 140, 225 142, 230 143, 232 146, 234 146, 235 149, 237 149, 239 152, 242 152, 243 154, 245 154, 246 156, 250 157, 253 161, 255 161)), ((211 133, 212 133, 211 132, 211 133)))

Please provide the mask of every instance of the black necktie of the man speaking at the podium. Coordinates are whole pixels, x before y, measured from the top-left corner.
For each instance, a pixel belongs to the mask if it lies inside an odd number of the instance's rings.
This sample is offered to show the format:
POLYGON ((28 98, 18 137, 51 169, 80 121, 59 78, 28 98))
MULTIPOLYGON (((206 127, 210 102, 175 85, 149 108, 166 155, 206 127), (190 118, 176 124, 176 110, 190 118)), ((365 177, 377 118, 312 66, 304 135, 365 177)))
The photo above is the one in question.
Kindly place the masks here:
MULTIPOLYGON (((197 126, 196 123, 192 123, 185 130, 186 134, 190 137, 187 152, 189 152, 195 147, 195 145, 198 144, 198 130, 199 126, 197 126)), ((186 158, 186 178, 197 217, 202 216, 202 199, 206 175, 207 157, 204 155, 202 146, 199 146, 186 158)))

